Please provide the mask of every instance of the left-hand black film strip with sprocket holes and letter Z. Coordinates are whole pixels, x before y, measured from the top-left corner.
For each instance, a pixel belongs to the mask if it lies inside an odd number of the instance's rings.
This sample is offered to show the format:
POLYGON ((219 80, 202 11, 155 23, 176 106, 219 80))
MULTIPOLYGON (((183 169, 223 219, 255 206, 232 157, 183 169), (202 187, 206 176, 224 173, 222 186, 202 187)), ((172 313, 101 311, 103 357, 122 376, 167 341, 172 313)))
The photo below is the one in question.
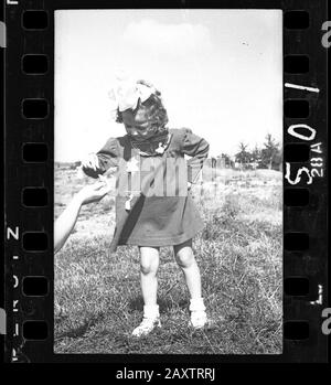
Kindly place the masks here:
POLYGON ((7 3, 6 354, 41 362, 53 351, 53 18, 40 1, 7 3))

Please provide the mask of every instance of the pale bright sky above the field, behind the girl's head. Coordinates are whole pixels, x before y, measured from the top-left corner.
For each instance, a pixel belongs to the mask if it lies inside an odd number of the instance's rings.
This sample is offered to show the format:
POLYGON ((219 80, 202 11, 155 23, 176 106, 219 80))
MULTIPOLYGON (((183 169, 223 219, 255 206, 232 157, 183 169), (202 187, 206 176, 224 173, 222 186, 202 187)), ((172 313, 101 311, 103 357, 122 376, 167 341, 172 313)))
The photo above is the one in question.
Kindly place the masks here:
POLYGON ((56 11, 55 161, 126 133, 108 96, 118 69, 151 82, 169 128, 191 128, 211 156, 282 140, 280 10, 56 11))

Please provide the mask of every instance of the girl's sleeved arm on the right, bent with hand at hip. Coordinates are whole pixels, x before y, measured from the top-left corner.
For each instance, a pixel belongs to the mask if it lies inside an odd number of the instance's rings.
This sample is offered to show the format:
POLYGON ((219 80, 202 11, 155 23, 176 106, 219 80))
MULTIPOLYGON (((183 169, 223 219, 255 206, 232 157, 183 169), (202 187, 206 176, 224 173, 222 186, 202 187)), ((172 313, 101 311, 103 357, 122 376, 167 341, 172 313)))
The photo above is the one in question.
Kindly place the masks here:
POLYGON ((190 129, 184 128, 184 136, 182 141, 182 152, 192 157, 188 161, 188 181, 194 183, 199 175, 204 160, 209 156, 210 145, 209 142, 194 135, 190 129))

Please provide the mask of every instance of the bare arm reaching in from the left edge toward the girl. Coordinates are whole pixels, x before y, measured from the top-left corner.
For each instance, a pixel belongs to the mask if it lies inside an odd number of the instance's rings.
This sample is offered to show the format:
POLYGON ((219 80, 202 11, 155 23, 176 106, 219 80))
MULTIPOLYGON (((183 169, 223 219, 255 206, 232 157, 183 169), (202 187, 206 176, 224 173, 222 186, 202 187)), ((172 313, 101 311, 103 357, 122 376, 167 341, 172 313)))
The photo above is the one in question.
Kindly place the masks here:
POLYGON ((83 204, 102 200, 110 188, 105 182, 97 182, 82 189, 65 207, 54 223, 54 253, 57 253, 71 235, 83 204))

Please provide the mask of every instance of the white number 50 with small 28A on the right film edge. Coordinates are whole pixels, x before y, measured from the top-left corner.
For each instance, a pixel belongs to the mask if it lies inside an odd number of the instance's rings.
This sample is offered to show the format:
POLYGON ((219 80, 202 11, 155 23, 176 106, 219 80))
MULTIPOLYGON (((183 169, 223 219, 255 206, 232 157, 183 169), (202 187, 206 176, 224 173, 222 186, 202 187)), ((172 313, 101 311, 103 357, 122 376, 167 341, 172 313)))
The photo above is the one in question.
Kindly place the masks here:
MULTIPOLYGON (((288 128, 288 133, 291 135, 295 138, 306 140, 306 141, 312 141, 316 138, 316 129, 311 128, 308 125, 292 125, 288 128), (299 131, 301 130, 301 132, 299 131), (303 129, 303 131, 302 131, 303 129)), ((286 173, 285 178, 290 184, 298 184, 301 181, 302 174, 307 175, 307 184, 311 184, 313 178, 322 178, 324 175, 324 161, 321 154, 322 151, 322 143, 311 143, 310 145, 310 151, 314 152, 314 157, 310 158, 310 169, 307 167, 301 167, 295 177, 291 177, 291 164, 289 162, 286 162, 286 173)))

